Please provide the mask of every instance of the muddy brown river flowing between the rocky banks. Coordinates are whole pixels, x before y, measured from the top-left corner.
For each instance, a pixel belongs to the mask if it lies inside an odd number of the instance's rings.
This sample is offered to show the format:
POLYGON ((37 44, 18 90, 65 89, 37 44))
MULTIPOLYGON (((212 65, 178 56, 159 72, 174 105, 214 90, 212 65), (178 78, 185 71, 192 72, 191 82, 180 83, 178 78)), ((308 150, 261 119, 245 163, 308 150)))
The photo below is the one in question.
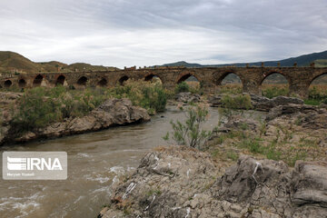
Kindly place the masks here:
MULTIPOLYGON (((206 129, 218 123, 218 110, 210 109, 206 129)), ((113 127, 43 142, 0 147, 4 151, 64 151, 68 154, 68 178, 64 181, 0 182, 0 217, 96 217, 110 202, 111 184, 132 171, 154 146, 166 145, 163 135, 171 120, 183 112, 168 106, 166 112, 145 124, 113 127)), ((2 164, 2 155, 0 155, 2 164)))

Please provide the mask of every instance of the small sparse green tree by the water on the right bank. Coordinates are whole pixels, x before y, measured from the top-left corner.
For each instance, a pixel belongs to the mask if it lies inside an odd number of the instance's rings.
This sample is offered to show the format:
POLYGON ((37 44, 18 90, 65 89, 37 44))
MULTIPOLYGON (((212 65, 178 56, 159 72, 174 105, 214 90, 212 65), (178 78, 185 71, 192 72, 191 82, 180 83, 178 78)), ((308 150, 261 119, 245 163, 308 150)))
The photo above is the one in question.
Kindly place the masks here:
MULTIPOLYGON (((200 149, 212 135, 211 131, 205 131, 202 124, 207 120, 208 110, 200 105, 191 105, 185 111, 186 120, 182 123, 171 121, 173 132, 172 139, 178 145, 188 145, 200 149)), ((168 132, 163 136, 165 141, 170 139, 168 132)))

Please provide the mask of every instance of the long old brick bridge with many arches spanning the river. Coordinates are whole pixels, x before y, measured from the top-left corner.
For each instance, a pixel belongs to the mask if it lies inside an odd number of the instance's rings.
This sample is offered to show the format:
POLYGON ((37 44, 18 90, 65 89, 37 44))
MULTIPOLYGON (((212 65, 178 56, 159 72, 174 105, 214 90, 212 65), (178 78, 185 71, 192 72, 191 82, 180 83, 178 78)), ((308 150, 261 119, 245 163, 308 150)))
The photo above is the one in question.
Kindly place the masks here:
POLYGON ((113 87, 123 84, 128 79, 151 80, 154 76, 161 79, 163 86, 173 89, 176 84, 183 82, 193 75, 203 84, 208 93, 213 93, 222 84, 223 78, 228 74, 237 74, 243 84, 243 92, 260 94, 263 80, 270 74, 282 74, 289 83, 290 94, 307 96, 312 81, 322 74, 327 74, 327 67, 157 67, 126 68, 117 71, 99 72, 72 72, 72 73, 39 73, 39 74, 2 74, 0 86, 4 88, 20 87, 28 88, 35 86, 54 87, 62 84, 74 86, 74 88, 89 87, 113 87))

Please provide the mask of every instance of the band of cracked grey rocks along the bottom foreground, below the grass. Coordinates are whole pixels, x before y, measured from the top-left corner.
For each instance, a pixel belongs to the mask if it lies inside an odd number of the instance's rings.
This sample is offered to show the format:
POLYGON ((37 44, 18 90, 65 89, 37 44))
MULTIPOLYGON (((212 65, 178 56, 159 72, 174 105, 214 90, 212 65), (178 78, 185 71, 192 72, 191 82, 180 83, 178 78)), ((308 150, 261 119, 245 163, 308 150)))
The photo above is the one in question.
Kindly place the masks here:
POLYGON ((327 163, 255 160, 225 170, 183 146, 146 154, 99 217, 325 217, 327 163))

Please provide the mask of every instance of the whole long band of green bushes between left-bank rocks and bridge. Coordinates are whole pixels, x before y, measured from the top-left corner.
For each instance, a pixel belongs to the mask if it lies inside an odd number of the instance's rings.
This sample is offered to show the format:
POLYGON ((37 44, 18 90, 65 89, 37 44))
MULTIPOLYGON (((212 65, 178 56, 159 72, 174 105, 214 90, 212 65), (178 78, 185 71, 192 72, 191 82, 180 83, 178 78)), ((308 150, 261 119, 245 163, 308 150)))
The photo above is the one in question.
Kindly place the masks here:
POLYGON ((96 88, 70 90, 64 86, 26 89, 13 108, 11 125, 22 133, 42 128, 65 118, 81 117, 103 104, 106 99, 129 98, 134 105, 144 107, 150 114, 163 111, 166 94, 160 84, 128 81, 112 89, 96 88))

